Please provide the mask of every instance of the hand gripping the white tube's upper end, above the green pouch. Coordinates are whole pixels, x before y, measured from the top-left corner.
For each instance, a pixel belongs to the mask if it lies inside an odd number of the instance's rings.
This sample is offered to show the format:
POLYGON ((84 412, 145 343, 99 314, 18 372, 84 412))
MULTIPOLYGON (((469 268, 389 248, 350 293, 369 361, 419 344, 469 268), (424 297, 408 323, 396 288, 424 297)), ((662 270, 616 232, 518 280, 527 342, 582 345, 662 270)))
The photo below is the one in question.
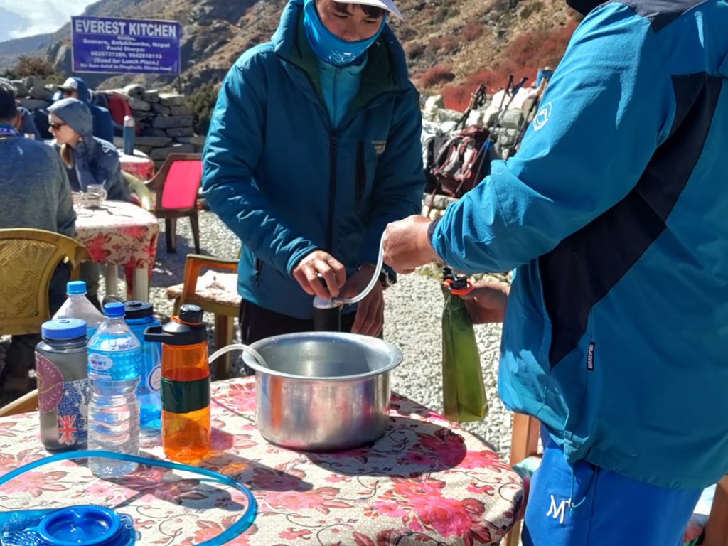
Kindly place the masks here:
POLYGON ((404 220, 389 223, 384 235, 384 263, 397 273, 411 273, 417 266, 438 259, 427 240, 430 220, 416 214, 404 220))

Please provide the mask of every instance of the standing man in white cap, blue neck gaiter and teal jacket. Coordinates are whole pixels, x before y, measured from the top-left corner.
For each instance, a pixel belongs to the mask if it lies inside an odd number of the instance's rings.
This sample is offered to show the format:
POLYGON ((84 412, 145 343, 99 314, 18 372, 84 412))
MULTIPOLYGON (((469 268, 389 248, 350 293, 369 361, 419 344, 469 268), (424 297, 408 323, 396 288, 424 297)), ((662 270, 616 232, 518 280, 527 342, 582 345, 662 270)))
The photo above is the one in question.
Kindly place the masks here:
MULTIPOLYGON (((421 210, 419 95, 392 15, 392 0, 290 0, 223 82, 202 188, 242 241, 245 343, 311 331, 313 296, 360 293, 384 227, 421 210)), ((380 336, 382 290, 344 308, 342 330, 380 336)))

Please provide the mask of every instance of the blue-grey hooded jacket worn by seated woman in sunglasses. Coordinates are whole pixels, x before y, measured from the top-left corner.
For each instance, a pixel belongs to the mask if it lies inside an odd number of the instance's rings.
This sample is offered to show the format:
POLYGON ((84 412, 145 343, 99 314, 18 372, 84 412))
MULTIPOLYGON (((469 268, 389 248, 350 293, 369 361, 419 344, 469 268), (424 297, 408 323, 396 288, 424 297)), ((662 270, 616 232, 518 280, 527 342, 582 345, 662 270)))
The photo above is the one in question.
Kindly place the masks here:
POLYGON ((86 103, 64 98, 49 106, 48 111, 82 136, 82 141, 71 149, 74 166, 66 167, 71 189, 87 191, 89 184, 102 184, 108 199, 127 201, 129 193, 122 176, 119 152, 113 144, 93 135, 91 113, 86 103))

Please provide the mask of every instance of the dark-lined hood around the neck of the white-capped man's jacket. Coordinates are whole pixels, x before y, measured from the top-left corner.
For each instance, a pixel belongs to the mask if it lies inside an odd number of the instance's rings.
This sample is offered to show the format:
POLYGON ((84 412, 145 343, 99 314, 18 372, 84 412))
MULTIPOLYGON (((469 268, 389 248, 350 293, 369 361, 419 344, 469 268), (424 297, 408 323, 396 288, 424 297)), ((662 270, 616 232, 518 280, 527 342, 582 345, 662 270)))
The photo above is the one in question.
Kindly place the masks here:
MULTIPOLYGON (((298 65, 301 63, 296 62, 297 60, 315 55, 305 36, 298 36, 299 28, 302 27, 303 8, 304 0, 289 0, 281 14, 278 28, 271 37, 274 52, 298 65), (304 48, 306 51, 303 51, 304 48)), ((409 83, 405 52, 389 25, 384 25, 379 38, 367 50, 368 55, 376 55, 378 49, 384 49, 387 52, 389 77, 394 81, 395 87, 400 89, 409 87, 411 84, 409 83)))

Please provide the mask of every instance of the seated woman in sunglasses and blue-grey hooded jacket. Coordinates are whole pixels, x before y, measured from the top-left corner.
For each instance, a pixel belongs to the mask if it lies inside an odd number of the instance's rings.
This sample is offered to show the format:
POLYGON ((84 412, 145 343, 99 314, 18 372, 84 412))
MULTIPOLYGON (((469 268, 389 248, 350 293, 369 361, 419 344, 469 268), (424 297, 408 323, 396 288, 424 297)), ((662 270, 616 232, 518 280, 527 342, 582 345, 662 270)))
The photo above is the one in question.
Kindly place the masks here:
MULTIPOLYGON (((86 103, 75 98, 64 98, 48 108, 50 132, 55 147, 66 165, 72 191, 88 191, 88 186, 100 184, 106 189, 108 199, 128 201, 129 192, 124 184, 119 153, 110 142, 93 135, 93 120, 86 103)), ((86 281, 87 298, 99 309, 98 264, 90 262, 81 266, 82 280, 86 281)))

